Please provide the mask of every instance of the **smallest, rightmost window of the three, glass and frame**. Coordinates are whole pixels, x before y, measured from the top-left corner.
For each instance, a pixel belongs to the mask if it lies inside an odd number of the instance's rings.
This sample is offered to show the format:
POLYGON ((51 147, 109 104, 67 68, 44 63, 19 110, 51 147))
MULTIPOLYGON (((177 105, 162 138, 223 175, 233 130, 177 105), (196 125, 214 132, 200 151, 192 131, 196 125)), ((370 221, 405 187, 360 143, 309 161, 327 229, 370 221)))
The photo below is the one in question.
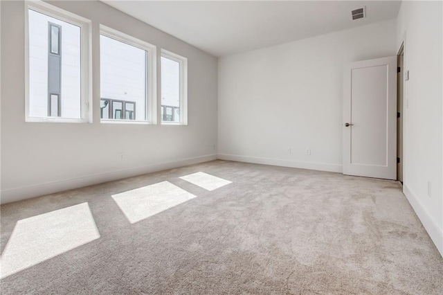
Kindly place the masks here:
POLYGON ((188 59, 161 51, 161 121, 188 124, 188 59))

